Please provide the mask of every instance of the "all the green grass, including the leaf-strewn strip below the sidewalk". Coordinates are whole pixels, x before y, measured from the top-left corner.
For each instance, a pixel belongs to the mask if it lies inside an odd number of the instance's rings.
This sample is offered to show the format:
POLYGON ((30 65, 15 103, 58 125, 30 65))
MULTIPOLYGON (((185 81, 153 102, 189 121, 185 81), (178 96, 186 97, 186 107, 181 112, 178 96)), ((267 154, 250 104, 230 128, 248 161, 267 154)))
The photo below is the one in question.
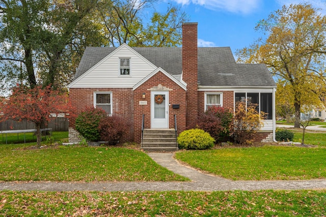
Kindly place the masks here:
MULTIPOLYGON (((308 135, 308 134, 307 134, 308 135)), ((64 135, 52 135, 64 140, 64 135)), ((300 137, 295 132, 294 139, 300 137)), ((322 146, 323 134, 309 134, 322 146), (320 136, 320 137, 319 137, 320 136)), ((44 142, 44 144, 46 144, 44 142)), ((186 180, 121 147, 0 145, 0 180, 186 180)), ((326 177, 326 148, 264 146, 179 151, 194 167, 234 180, 326 177)), ((221 192, 0 191, 0 216, 324 216, 326 190, 221 192)))

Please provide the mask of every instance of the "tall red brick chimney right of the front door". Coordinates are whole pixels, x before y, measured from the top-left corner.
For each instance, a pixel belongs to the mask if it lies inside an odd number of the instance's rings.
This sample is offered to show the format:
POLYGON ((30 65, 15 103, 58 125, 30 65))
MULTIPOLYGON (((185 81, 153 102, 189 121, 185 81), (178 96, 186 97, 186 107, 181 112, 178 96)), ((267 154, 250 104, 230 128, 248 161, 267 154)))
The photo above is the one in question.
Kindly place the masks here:
POLYGON ((182 24, 182 80, 187 83, 186 126, 198 116, 197 22, 182 24))

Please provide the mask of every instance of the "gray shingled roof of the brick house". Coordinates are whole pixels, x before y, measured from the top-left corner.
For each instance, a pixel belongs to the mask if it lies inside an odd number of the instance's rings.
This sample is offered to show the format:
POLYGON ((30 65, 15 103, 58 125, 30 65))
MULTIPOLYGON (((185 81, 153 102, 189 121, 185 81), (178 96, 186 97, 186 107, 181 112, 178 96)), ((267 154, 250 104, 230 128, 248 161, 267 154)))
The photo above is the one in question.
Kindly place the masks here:
MULTIPOLYGON (((74 80, 116 48, 87 47, 74 80)), ((156 67, 178 77, 182 71, 182 48, 133 48, 156 67)), ((201 86, 276 86, 263 64, 237 64, 230 47, 198 48, 198 82, 201 86)))

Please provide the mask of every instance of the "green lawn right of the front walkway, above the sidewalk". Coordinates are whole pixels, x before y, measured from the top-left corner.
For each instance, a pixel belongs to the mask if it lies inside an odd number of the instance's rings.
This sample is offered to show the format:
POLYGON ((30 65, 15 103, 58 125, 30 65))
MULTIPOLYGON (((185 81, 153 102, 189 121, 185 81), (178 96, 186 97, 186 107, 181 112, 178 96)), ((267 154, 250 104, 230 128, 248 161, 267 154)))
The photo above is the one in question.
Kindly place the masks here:
POLYGON ((326 178, 326 148, 263 146, 179 151, 176 158, 233 180, 326 178))

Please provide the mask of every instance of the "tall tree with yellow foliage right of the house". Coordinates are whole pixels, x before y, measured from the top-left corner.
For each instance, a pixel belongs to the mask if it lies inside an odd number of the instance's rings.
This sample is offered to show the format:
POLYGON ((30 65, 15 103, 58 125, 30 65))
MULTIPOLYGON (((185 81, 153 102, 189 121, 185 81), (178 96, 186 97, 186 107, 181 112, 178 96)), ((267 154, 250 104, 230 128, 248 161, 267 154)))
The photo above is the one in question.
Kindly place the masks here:
POLYGON ((304 108, 325 104, 326 17, 309 4, 283 6, 260 20, 256 30, 266 39, 239 50, 238 61, 266 64, 278 80, 277 110, 291 103, 298 128, 304 108))

